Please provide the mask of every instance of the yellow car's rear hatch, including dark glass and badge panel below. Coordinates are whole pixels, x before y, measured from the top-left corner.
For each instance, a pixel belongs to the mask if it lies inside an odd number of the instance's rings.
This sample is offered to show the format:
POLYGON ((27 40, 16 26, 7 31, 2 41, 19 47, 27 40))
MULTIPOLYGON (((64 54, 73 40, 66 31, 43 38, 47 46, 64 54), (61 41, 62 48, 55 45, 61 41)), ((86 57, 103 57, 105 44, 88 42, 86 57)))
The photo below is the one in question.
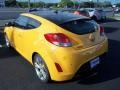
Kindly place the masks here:
POLYGON ((74 20, 60 25, 65 30, 72 32, 69 38, 75 48, 88 48, 104 40, 104 30, 93 20, 74 20))

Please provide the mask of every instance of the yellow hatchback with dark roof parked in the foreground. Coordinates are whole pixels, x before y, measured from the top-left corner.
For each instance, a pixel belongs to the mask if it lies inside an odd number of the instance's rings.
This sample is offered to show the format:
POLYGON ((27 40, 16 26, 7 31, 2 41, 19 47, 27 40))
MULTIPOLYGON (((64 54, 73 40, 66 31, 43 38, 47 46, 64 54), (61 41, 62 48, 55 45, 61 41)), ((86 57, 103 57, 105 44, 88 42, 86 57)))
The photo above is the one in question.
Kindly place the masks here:
POLYGON ((4 33, 6 45, 34 66, 42 82, 70 80, 86 63, 93 69, 108 50, 103 27, 68 12, 23 13, 4 33))

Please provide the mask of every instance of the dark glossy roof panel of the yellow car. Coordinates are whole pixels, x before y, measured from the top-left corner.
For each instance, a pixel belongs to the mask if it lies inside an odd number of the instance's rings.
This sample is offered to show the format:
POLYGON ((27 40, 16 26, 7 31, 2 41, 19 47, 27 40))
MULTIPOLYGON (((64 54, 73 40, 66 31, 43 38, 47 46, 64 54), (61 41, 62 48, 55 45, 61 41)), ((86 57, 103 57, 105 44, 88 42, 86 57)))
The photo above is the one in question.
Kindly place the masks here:
POLYGON ((85 17, 85 16, 74 15, 69 12, 60 12, 60 11, 55 11, 55 10, 35 11, 35 12, 30 12, 30 13, 43 17, 56 24, 63 24, 63 23, 73 21, 73 20, 78 20, 78 19, 82 19, 82 20, 89 19, 88 17, 85 17))

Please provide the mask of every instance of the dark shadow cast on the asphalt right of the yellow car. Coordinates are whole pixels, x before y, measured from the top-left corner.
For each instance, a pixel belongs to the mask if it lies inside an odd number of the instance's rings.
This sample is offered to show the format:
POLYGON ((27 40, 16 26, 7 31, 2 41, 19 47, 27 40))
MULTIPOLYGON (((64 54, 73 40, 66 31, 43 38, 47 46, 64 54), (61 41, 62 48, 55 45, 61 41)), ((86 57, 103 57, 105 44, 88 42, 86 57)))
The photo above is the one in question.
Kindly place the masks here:
POLYGON ((84 80, 77 79, 78 84, 91 85, 120 77, 120 41, 109 40, 109 51, 99 67, 98 74, 84 80))

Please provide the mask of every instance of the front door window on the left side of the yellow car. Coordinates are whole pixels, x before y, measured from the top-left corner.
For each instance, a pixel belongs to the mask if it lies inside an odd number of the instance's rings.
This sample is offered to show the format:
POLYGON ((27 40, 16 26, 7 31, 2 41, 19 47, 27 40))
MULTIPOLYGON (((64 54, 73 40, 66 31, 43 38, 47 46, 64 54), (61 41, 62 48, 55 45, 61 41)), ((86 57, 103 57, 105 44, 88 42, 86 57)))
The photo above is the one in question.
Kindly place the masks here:
POLYGON ((20 16, 15 20, 15 26, 19 28, 26 29, 27 23, 28 23, 28 18, 25 16, 20 16))

